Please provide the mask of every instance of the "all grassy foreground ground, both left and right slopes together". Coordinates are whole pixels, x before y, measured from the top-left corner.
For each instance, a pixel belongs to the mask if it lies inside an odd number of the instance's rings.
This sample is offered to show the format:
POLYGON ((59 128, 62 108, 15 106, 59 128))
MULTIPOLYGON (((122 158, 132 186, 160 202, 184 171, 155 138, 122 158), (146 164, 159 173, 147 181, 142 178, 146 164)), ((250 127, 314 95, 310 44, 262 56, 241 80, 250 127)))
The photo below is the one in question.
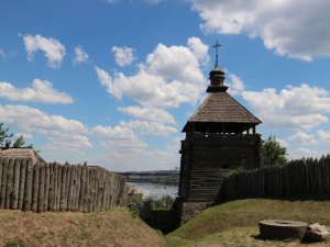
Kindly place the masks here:
POLYGON ((223 203, 201 212, 167 236, 132 216, 129 210, 116 207, 90 214, 0 211, 0 246, 330 246, 330 239, 319 244, 263 239, 258 222, 267 218, 330 226, 330 194, 223 203))

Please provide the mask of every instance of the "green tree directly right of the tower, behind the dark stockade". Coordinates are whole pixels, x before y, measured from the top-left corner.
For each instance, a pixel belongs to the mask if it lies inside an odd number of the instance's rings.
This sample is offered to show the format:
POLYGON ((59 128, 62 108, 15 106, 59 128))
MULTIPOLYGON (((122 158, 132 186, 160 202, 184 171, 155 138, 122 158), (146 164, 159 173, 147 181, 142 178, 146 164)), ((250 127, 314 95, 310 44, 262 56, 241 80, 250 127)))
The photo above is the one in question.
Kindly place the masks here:
POLYGON ((287 150, 277 142, 275 135, 270 135, 268 139, 263 141, 263 161, 264 165, 285 165, 287 150))

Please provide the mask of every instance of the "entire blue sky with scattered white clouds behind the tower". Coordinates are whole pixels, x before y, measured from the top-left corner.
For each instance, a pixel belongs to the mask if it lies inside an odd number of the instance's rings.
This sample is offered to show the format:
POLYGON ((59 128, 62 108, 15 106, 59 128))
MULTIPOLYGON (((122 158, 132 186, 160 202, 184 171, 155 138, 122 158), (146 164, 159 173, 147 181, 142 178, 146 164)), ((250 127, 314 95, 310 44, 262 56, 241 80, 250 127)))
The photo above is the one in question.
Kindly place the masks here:
POLYGON ((0 123, 47 161, 179 167, 219 65, 287 158, 330 147, 328 0, 0 2, 0 123))

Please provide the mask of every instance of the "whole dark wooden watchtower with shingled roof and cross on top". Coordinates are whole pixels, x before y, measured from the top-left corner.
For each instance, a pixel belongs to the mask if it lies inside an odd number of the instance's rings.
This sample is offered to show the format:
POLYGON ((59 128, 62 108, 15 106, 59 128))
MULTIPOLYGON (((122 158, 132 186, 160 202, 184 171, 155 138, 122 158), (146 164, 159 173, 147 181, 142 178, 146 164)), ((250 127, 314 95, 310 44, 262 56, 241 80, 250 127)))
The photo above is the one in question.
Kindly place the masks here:
POLYGON ((208 97, 183 130, 179 199, 186 204, 219 202, 229 170, 262 164, 261 135, 255 132, 262 122, 227 92, 218 54, 209 79, 208 97))

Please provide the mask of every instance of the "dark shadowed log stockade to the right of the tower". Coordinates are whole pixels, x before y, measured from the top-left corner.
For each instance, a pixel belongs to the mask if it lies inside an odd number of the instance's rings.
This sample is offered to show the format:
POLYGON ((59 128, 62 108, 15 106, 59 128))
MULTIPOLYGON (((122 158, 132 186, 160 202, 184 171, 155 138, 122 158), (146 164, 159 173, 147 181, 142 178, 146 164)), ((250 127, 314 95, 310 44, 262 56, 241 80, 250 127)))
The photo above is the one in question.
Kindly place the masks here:
POLYGON ((277 195, 330 193, 330 155, 243 170, 224 180, 226 201, 277 195))

